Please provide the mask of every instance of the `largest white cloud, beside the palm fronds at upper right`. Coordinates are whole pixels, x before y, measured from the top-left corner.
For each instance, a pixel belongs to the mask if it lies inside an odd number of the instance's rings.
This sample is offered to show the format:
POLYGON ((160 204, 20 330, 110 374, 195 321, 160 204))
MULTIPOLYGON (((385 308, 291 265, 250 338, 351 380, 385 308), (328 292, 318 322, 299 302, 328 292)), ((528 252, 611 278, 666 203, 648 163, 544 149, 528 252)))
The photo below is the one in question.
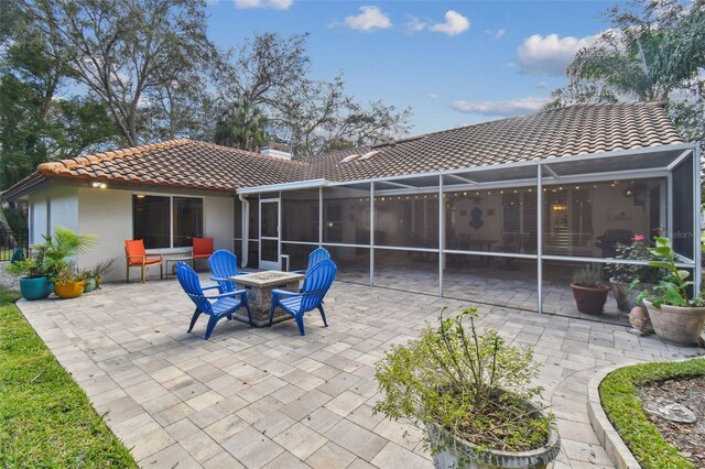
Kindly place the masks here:
POLYGON ((599 34, 585 37, 560 37, 557 34, 527 37, 517 50, 522 70, 528 74, 563 75, 575 53, 595 43, 599 34))

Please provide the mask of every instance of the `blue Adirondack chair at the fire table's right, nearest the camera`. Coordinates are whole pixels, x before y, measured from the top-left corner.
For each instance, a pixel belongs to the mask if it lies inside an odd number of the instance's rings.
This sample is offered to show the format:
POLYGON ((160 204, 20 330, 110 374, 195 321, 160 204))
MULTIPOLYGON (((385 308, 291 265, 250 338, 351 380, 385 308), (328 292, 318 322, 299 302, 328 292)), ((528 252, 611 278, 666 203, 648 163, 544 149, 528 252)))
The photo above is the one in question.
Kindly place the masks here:
POLYGON ((312 309, 318 309, 323 324, 328 327, 326 314, 323 310, 323 297, 330 288, 335 274, 338 271, 335 262, 330 259, 324 259, 312 266, 304 280, 304 286, 300 293, 288 292, 285 290, 272 291, 272 307, 269 310, 269 326, 272 327, 274 319, 274 309, 279 306, 285 313, 292 315, 299 326, 302 336, 304 332, 304 313, 312 309))

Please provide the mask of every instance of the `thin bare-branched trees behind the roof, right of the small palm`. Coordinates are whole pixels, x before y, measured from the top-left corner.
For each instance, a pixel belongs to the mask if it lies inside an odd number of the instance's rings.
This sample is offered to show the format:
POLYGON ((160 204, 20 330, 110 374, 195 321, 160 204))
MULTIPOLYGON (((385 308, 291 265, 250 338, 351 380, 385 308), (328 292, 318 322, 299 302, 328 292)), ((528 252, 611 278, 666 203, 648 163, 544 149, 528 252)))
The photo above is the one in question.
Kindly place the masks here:
POLYGON ((311 78, 306 37, 264 33, 245 42, 220 81, 220 96, 260 108, 272 134, 291 144, 294 157, 337 149, 341 142, 378 143, 409 131, 410 109, 381 101, 366 107, 346 94, 343 76, 311 78))

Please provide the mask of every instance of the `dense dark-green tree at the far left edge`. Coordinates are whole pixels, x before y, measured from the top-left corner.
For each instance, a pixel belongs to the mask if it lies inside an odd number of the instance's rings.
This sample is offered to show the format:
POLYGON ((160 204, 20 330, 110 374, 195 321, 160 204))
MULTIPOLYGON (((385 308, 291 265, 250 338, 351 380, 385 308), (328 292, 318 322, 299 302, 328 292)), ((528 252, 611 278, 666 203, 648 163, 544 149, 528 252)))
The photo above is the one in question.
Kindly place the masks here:
POLYGON ((11 26, 0 36, 0 186, 8 187, 40 163, 111 140, 115 128, 105 106, 90 97, 57 97, 70 79, 70 69, 56 59, 65 51, 20 9, 4 6, 3 12, 11 26))

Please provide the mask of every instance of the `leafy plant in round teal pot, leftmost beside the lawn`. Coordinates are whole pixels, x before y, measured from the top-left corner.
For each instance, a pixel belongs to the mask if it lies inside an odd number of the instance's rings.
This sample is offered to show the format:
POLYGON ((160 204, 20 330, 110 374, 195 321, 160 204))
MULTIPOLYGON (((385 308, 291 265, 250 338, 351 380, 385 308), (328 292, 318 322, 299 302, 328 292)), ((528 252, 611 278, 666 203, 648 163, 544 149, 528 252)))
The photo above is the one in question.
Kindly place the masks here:
POLYGON ((8 265, 8 272, 20 276, 20 292, 24 299, 44 299, 54 291, 53 279, 64 268, 64 262, 46 258, 44 246, 33 247, 32 252, 32 259, 8 265))

